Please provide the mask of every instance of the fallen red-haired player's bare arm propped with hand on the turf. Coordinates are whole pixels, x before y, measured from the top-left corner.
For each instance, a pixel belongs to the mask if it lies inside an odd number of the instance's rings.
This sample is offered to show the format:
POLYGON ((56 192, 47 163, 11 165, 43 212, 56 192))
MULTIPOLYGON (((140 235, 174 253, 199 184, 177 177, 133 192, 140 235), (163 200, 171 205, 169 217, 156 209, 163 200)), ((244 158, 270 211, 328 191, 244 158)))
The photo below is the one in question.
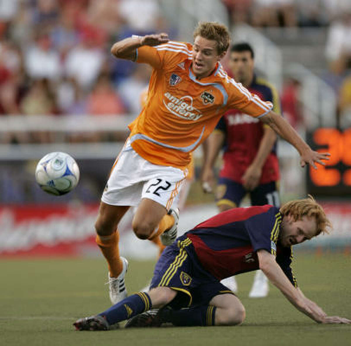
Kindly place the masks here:
POLYGON ((285 295, 285 297, 299 311, 303 312, 317 323, 329 324, 350 324, 351 320, 339 316, 326 316, 322 308, 316 303, 307 299, 299 288, 294 287, 279 267, 274 256, 266 250, 258 250, 257 256, 260 269, 266 274, 267 278, 274 286, 285 295))

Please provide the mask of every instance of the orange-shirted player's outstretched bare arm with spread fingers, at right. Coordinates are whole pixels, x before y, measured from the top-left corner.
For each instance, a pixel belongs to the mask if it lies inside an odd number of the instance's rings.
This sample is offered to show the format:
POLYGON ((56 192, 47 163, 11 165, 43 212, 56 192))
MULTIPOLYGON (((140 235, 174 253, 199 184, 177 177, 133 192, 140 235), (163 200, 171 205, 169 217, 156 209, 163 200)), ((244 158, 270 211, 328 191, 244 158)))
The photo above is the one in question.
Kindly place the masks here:
POLYGON ((306 164, 310 164, 314 169, 317 169, 316 163, 324 166, 325 162, 323 162, 323 160, 329 160, 329 153, 313 151, 292 128, 292 126, 277 113, 270 111, 265 116, 261 117, 260 120, 271 126, 271 128, 277 132, 279 136, 284 138, 285 141, 289 142, 297 149, 301 156, 301 167, 305 167, 306 164))

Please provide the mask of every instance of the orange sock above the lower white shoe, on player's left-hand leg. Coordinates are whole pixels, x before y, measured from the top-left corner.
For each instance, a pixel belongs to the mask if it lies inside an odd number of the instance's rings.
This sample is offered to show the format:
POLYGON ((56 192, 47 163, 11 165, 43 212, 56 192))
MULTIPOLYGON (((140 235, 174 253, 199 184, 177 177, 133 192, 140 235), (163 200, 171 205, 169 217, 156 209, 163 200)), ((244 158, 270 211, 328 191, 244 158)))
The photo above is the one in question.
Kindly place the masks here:
POLYGON ((102 254, 107 260, 108 271, 110 276, 117 278, 117 276, 122 272, 123 263, 119 257, 119 233, 116 230, 113 234, 108 236, 96 236, 95 239, 98 244, 102 254))

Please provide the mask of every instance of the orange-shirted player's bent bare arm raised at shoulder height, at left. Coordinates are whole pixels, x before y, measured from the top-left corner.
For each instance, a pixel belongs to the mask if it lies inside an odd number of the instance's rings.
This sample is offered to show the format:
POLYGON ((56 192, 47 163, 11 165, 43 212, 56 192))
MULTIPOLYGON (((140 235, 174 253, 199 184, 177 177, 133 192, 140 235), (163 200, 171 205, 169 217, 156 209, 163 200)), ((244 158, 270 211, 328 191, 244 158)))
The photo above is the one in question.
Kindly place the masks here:
POLYGON ((116 58, 135 61, 137 58, 137 48, 141 46, 157 46, 167 42, 168 35, 166 33, 132 36, 116 42, 111 48, 111 53, 116 58))

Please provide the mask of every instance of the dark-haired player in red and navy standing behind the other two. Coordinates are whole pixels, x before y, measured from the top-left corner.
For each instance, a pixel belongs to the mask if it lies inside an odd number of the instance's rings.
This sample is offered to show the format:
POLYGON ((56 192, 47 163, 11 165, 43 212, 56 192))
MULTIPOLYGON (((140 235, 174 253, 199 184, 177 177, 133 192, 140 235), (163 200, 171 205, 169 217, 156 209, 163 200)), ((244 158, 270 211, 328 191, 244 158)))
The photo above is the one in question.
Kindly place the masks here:
MULTIPOLYGON (((280 114, 277 90, 266 80, 254 74, 254 52, 248 43, 234 44, 230 50, 229 69, 233 78, 251 93, 273 104, 273 111, 280 114)), ((231 109, 219 120, 208 137, 204 157, 203 183, 213 186, 213 167, 219 151, 224 147, 223 167, 219 174, 216 200, 219 211, 236 208, 247 192, 251 205, 272 204, 279 208, 279 163, 276 155, 276 133, 236 109, 231 109)), ((222 282, 237 291, 235 278, 222 282)), ((249 296, 264 297, 269 285, 266 276, 256 272, 249 296)))

